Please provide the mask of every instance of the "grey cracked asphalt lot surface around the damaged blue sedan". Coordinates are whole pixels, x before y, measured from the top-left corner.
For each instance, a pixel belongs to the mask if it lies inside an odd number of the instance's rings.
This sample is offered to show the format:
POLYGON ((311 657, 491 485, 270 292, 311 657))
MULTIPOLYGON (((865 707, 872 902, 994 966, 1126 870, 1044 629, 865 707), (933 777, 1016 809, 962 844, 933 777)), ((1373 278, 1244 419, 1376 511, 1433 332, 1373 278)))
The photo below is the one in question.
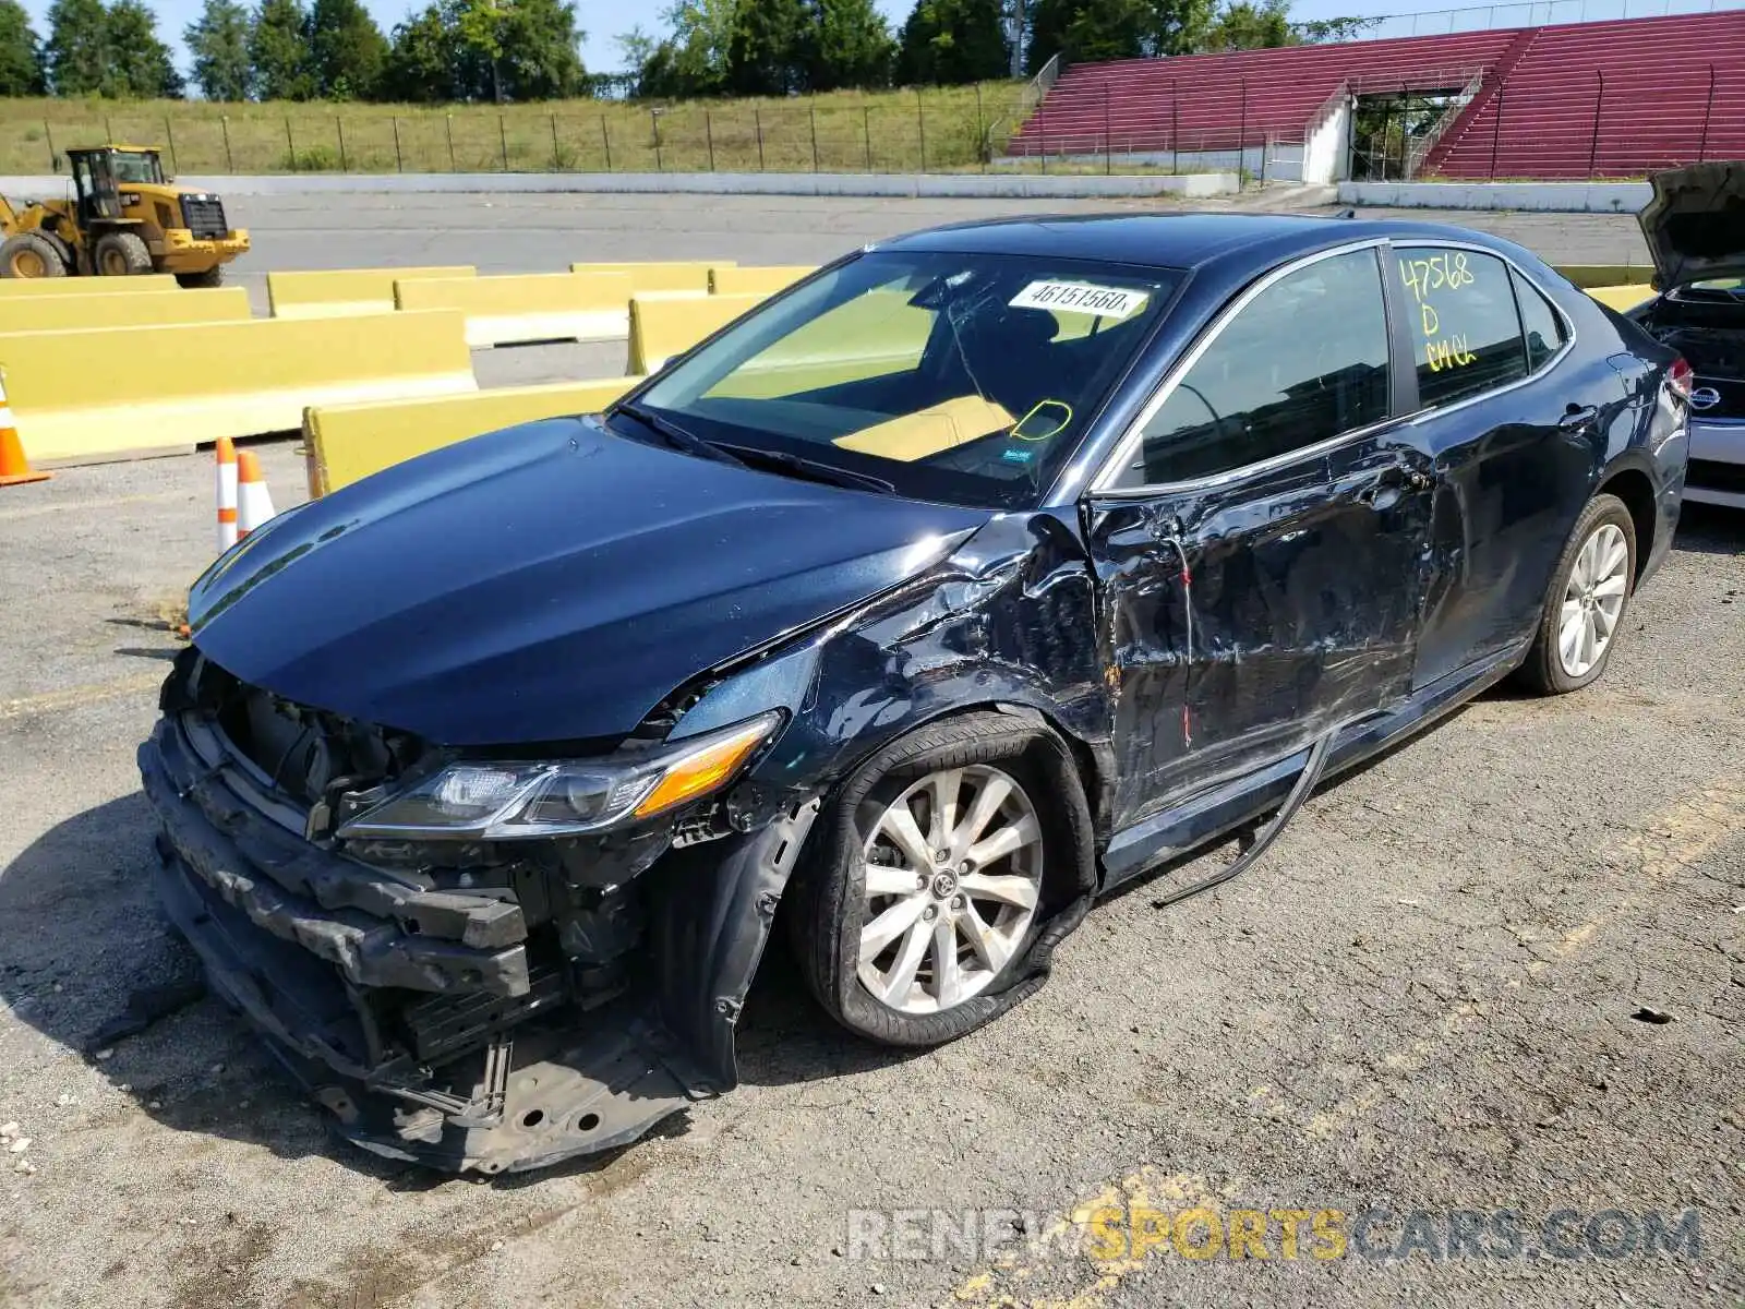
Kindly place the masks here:
MULTIPOLYGON (((1024 208, 483 204, 239 204, 244 272, 796 262, 1024 208)), ((1642 258, 1630 220, 1473 218, 1553 258, 1642 258)), ((480 360, 497 382, 623 367, 618 347, 480 360)), ((260 449, 298 499, 293 445, 260 449)), ((131 991, 194 974, 147 888, 133 750, 211 555, 209 476, 161 459, 0 490, 0 1306, 1745 1304, 1745 515, 1687 511, 1597 686, 1492 693, 1324 787, 1242 880, 1103 904, 995 1026, 859 1045, 771 951, 738 1093, 478 1183, 330 1140, 215 1000, 89 1047, 131 991), (1410 1248, 1415 1210, 1443 1234, 1516 1210, 1537 1257, 1316 1257, 1309 1218, 1295 1258, 1284 1220, 1263 1260, 1049 1244, 1101 1204, 1386 1208, 1370 1250, 1410 1248), (986 1211, 972 1241, 965 1210, 986 1211), (1539 1230, 1558 1210, 1569 1258, 1539 1230), (1597 1257, 1581 1230, 1605 1210, 1626 1215, 1600 1222, 1612 1253, 1626 1222, 1694 1211, 1700 1255, 1597 1257)))

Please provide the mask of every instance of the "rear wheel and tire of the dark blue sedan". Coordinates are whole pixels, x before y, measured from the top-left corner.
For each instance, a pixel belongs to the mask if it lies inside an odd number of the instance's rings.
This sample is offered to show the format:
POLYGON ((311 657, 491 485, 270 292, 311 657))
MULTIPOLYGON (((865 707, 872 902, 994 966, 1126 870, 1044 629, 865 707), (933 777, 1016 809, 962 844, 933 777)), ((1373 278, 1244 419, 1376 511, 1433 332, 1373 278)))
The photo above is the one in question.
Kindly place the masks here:
POLYGON ((1598 681, 1635 588, 1635 520, 1616 496, 1595 496, 1551 574, 1522 681, 1567 695, 1598 681))

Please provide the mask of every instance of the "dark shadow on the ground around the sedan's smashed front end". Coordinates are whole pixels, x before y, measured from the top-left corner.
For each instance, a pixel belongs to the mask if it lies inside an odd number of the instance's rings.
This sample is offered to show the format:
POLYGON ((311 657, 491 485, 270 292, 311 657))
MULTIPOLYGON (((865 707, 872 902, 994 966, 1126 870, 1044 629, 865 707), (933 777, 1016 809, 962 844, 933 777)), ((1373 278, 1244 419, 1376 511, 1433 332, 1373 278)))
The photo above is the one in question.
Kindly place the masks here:
MULTIPOLYGON (((152 892, 154 833, 150 806, 131 794, 51 827, 0 869, 0 998, 166 1127, 263 1147, 286 1159, 326 1155, 380 1178, 389 1190, 455 1182, 448 1173, 379 1159, 332 1134, 326 1115, 281 1073, 250 1025, 202 993, 199 960, 169 929, 152 892), (168 1012, 134 1035, 98 1044, 99 1033, 127 1014, 129 1000, 141 998, 168 1012)), ((911 1054, 867 1045, 836 1028, 811 1002, 780 941, 759 969, 738 1051, 740 1077, 756 1086, 827 1080, 911 1054)), ((649 1134, 681 1136, 693 1114, 708 1112, 703 1101, 649 1134)), ((595 1173, 635 1148, 494 1178, 492 1185, 595 1173)))

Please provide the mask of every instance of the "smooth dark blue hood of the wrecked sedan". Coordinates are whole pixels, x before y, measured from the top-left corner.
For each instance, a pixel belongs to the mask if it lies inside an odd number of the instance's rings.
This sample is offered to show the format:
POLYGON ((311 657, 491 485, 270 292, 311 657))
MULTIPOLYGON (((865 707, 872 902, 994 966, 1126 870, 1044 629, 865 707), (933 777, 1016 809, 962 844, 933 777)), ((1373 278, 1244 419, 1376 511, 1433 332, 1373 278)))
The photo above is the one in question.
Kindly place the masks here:
POLYGON ((988 517, 548 419, 274 518, 195 583, 188 621, 243 681, 426 740, 611 738, 988 517))

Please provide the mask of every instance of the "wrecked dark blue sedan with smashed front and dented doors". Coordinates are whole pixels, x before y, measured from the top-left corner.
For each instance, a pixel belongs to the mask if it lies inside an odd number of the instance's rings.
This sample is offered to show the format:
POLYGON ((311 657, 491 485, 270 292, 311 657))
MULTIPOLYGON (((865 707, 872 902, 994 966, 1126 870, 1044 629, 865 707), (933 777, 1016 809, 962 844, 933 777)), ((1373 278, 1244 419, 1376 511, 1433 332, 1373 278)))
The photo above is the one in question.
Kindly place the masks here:
POLYGON ((1602 675, 1689 379, 1452 227, 859 251, 220 559, 140 750, 162 899, 344 1134, 441 1168, 731 1089, 777 918, 846 1028, 951 1040, 1117 883, 1602 675))

